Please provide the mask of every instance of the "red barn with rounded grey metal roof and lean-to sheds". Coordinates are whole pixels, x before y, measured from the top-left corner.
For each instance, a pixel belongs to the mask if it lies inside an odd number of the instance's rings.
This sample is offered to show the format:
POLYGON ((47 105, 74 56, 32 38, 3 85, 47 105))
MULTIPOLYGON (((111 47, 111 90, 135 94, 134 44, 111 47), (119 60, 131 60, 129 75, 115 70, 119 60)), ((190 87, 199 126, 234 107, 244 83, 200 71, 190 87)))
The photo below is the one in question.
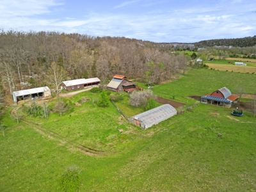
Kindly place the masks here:
POLYGON ((217 106, 227 106, 230 108, 232 105, 237 104, 237 97, 232 95, 227 87, 223 87, 220 90, 202 96, 201 102, 205 104, 217 104, 217 106))

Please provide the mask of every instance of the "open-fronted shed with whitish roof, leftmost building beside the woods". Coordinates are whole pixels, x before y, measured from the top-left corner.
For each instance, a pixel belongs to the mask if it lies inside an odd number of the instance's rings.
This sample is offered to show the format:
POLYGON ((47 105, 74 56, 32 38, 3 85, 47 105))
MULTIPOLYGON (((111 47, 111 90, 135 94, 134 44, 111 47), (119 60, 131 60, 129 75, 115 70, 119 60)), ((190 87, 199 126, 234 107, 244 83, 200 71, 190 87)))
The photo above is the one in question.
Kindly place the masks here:
POLYGON ((16 92, 12 92, 12 99, 15 102, 19 100, 25 99, 35 99, 40 97, 51 97, 51 90, 47 86, 28 89, 28 90, 20 90, 16 92))

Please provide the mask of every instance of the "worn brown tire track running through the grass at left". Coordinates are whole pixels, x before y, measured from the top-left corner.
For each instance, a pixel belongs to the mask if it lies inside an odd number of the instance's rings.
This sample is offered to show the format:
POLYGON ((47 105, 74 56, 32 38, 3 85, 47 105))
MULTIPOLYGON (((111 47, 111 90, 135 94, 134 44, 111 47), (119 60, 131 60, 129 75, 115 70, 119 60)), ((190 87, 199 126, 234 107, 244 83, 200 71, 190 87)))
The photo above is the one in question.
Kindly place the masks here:
MULTIPOLYGON (((15 117, 15 115, 13 115, 14 113, 17 113, 17 110, 19 109, 15 108, 13 109, 10 114, 15 117)), ((86 147, 84 145, 81 145, 80 143, 77 143, 76 141, 72 141, 72 140, 68 140, 68 138, 65 138, 64 136, 61 136, 60 134, 51 131, 49 129, 46 129, 45 127, 42 127, 42 125, 38 125, 35 124, 34 122, 27 120, 26 118, 22 118, 20 121, 31 125, 35 131, 39 132, 40 134, 45 134, 47 135, 49 138, 54 138, 55 140, 59 141, 60 143, 63 143, 65 145, 69 145, 70 147, 76 147, 79 151, 83 152, 83 154, 86 154, 88 156, 94 156, 94 155, 99 155, 102 154, 102 152, 105 152, 103 150, 97 150, 94 148, 90 148, 90 147, 86 147)))

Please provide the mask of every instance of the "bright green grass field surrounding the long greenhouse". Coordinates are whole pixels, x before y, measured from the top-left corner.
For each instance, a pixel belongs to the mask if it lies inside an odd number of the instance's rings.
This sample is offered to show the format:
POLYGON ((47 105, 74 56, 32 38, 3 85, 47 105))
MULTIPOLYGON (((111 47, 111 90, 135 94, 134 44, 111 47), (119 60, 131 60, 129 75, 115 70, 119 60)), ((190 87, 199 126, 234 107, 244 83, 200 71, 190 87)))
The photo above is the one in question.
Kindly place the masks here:
MULTIPOLYGON (((216 70, 190 70, 176 81, 154 86, 161 97, 192 104, 190 95, 204 95, 236 82, 246 92, 256 88, 252 74, 216 70)), ((110 104, 94 106, 99 93, 83 92, 70 98, 72 108, 49 120, 31 118, 35 124, 17 124, 11 107, 1 117, 8 126, 0 136, 0 191, 58 191, 65 168, 81 170, 79 191, 256 191, 256 118, 244 111, 234 117, 232 109, 199 104, 193 112, 161 122, 147 130, 127 123, 110 104), (90 100, 76 106, 81 97, 90 100), (71 115, 71 116, 70 116, 71 115), (36 131, 41 126, 95 149, 86 155, 69 143, 36 131), (221 136, 218 136, 221 134, 221 136)), ((127 115, 143 109, 127 109, 127 115)), ((120 107, 120 108, 121 108, 120 107)), ((122 109, 124 111, 124 109, 122 109)))

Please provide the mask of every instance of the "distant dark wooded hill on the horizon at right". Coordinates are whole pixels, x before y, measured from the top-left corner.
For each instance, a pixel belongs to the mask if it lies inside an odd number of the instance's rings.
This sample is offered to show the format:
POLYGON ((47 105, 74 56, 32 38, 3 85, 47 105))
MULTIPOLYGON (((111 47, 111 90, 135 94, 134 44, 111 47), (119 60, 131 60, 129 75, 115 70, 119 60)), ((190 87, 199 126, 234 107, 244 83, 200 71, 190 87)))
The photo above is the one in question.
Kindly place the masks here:
POLYGON ((194 43, 196 47, 213 47, 213 46, 233 46, 233 47, 252 47, 256 45, 256 35, 246 36, 244 38, 224 38, 203 40, 194 43))

